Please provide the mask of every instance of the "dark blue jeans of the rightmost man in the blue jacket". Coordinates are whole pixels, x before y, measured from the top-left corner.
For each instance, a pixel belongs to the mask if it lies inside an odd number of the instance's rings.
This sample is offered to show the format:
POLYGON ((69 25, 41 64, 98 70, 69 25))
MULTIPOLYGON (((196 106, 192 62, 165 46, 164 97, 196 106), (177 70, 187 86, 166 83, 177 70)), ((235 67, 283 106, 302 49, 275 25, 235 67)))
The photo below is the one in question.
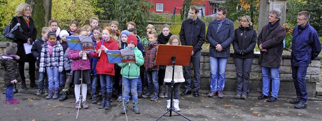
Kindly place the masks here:
POLYGON ((306 99, 308 97, 305 81, 306 70, 307 66, 292 66, 292 78, 294 81, 296 96, 300 97, 301 102, 306 102, 306 99))

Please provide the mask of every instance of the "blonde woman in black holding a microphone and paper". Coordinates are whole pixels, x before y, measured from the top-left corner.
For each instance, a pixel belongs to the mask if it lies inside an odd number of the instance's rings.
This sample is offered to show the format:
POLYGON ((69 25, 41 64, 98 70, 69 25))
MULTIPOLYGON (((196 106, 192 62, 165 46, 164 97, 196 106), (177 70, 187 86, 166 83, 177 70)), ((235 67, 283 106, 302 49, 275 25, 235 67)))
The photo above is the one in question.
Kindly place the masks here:
POLYGON ((37 30, 34 25, 34 20, 31 16, 31 7, 29 4, 22 3, 16 9, 16 16, 11 20, 12 25, 15 26, 20 23, 20 29, 17 29, 15 33, 14 43, 18 44, 17 55, 20 56, 20 60, 18 61, 19 73, 22 79, 21 88, 27 89, 26 86, 26 77, 25 77, 25 62, 29 63, 29 79, 30 79, 30 87, 38 88, 35 83, 35 62, 36 59, 32 56, 32 54, 26 54, 24 49, 24 43, 28 43, 32 45, 32 43, 36 40, 37 30))

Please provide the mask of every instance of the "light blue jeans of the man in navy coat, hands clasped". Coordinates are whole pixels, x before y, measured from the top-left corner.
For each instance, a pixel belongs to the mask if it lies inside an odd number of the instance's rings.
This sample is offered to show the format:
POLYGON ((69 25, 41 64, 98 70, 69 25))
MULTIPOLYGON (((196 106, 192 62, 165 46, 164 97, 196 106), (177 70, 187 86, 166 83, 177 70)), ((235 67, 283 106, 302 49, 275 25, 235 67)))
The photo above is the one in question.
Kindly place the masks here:
POLYGON ((223 90, 225 87, 227 58, 209 57, 210 91, 223 90))

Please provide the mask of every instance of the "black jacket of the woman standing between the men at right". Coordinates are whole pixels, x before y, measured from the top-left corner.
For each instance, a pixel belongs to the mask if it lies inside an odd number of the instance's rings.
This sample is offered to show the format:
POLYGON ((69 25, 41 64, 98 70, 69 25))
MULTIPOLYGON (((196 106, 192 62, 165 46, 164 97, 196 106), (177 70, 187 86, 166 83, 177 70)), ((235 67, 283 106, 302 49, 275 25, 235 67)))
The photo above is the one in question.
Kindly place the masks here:
POLYGON ((235 29, 235 39, 232 42, 235 58, 254 58, 257 34, 253 26, 239 26, 235 29))

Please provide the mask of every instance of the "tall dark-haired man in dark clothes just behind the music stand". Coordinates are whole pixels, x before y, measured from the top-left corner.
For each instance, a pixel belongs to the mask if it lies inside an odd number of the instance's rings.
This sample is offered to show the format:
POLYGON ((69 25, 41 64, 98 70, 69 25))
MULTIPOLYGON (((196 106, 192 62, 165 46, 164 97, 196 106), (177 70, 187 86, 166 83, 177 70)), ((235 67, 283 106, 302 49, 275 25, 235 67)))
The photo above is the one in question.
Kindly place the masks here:
MULTIPOLYGON (((199 8, 196 6, 191 6, 189 10, 190 19, 182 22, 180 30, 180 41, 182 45, 193 46, 191 52, 191 59, 193 69, 194 69, 194 97, 199 97, 200 88, 200 56, 201 56, 201 46, 205 42, 205 23, 201 21, 197 15, 199 14, 199 8)), ((184 78, 186 90, 181 93, 181 95, 191 94, 191 72, 190 66, 184 66, 185 75, 184 78)))

